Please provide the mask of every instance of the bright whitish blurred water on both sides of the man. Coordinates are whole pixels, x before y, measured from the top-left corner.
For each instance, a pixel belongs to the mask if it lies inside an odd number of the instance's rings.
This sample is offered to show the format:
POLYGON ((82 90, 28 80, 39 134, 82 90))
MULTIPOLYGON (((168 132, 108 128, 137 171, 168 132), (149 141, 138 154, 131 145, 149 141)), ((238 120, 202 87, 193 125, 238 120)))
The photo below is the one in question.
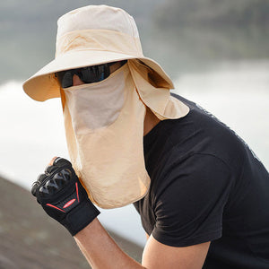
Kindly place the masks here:
MULTIPOLYGON (((269 169, 269 61, 236 61, 178 74, 176 92, 194 100, 235 130, 269 169)), ((60 100, 36 102, 22 82, 0 86, 0 174, 30 188, 53 156, 68 158, 60 100)), ((145 243, 133 205, 102 210, 100 221, 145 243)))

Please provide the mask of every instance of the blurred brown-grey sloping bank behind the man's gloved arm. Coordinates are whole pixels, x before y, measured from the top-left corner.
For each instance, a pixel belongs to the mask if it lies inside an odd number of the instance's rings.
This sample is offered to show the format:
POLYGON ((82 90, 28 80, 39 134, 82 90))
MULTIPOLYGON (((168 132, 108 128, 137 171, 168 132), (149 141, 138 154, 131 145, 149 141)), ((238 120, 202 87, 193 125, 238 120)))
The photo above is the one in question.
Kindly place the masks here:
MULTIPOLYGON (((0 197, 1 269, 89 268, 69 232, 43 212, 29 191, 0 178, 0 197)), ((142 247, 110 235, 140 261, 142 247)))

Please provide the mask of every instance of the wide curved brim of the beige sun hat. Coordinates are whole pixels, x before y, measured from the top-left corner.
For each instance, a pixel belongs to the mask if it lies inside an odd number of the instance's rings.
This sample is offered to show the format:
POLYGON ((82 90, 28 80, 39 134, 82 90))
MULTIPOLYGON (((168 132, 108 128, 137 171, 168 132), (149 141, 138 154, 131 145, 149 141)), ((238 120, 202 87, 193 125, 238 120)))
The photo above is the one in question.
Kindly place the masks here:
POLYGON ((157 62, 148 57, 137 57, 111 51, 100 50, 72 50, 57 56, 53 61, 41 68, 36 74, 23 82, 23 90, 33 100, 44 101, 60 97, 60 85, 56 79, 56 73, 68 69, 80 68, 91 65, 116 62, 120 60, 139 59, 145 65, 152 68, 161 78, 167 82, 168 88, 173 89, 173 82, 169 75, 157 62))

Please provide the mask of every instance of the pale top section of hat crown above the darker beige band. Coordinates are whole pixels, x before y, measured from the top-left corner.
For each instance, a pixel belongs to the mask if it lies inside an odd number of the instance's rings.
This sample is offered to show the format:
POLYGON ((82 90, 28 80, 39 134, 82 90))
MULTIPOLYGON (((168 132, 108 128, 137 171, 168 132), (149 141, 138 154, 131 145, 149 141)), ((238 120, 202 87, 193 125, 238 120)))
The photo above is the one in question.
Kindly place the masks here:
POLYGON ((88 5, 65 13, 57 21, 56 39, 74 30, 115 30, 139 38, 134 18, 121 8, 88 5))

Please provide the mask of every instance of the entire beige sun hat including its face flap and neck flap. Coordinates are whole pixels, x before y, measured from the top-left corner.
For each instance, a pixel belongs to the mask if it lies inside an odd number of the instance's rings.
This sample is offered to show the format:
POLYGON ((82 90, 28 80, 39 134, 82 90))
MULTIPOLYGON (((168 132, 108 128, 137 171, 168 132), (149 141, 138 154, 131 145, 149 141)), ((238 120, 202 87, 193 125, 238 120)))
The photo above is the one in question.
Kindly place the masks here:
POLYGON ((161 120, 187 115, 170 97, 173 83, 143 56, 134 19, 89 5, 58 20, 56 58, 23 83, 34 100, 62 99, 70 159, 91 201, 103 208, 134 203, 149 189, 143 160, 146 107, 161 120), (98 83, 60 88, 55 73, 119 60, 128 64, 98 83), (104 109, 104 110, 103 110, 104 109))

